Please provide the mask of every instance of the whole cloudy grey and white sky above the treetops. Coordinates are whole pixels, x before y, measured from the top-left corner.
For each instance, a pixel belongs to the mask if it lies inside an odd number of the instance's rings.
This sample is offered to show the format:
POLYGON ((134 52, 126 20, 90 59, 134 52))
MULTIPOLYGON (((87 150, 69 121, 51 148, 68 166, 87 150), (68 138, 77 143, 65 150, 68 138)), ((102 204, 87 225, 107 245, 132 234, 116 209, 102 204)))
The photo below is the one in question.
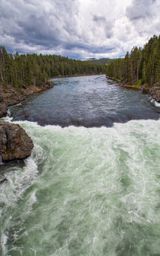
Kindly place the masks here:
POLYGON ((159 32, 160 0, 0 0, 10 53, 120 58, 159 32))

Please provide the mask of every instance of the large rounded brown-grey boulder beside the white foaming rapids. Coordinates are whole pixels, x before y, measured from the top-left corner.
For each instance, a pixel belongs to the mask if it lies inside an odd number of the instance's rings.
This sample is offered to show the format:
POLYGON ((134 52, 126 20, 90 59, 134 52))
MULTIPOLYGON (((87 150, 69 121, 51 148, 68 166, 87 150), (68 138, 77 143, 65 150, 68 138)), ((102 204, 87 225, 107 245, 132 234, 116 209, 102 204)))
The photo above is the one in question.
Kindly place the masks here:
POLYGON ((27 158, 34 143, 18 124, 0 121, 0 154, 2 161, 27 158))

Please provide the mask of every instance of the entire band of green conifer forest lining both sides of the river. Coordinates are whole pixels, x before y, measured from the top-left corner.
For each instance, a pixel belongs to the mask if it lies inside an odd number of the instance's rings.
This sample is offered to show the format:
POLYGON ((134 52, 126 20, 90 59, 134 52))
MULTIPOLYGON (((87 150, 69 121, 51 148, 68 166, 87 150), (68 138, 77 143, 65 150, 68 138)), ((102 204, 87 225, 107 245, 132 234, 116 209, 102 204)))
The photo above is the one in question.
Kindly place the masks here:
POLYGON ((143 48, 133 47, 123 59, 80 61, 56 55, 11 54, 0 46, 0 85, 15 89, 41 86, 49 78, 67 75, 106 74, 125 85, 152 85, 160 82, 160 36, 153 36, 143 48), (106 61, 110 61, 107 64, 106 61), (103 65, 101 64, 103 63, 103 65))

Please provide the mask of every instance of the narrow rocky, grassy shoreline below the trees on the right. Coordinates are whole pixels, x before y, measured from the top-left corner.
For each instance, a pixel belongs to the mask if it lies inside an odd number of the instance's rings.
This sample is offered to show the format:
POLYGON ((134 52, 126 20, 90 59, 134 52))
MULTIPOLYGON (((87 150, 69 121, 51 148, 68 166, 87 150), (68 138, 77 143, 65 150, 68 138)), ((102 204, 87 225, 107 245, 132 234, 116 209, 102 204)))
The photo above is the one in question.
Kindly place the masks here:
POLYGON ((141 86, 128 85, 128 84, 126 84, 126 82, 120 81, 117 78, 112 78, 108 75, 106 75, 106 77, 108 79, 116 81, 117 85, 120 87, 131 88, 131 89, 142 91, 143 93, 146 93, 146 94, 150 94, 155 101, 157 101, 158 103, 160 102, 160 84, 159 83, 156 83, 155 85, 152 86, 152 88, 149 88, 149 86, 147 84, 141 85, 141 86))

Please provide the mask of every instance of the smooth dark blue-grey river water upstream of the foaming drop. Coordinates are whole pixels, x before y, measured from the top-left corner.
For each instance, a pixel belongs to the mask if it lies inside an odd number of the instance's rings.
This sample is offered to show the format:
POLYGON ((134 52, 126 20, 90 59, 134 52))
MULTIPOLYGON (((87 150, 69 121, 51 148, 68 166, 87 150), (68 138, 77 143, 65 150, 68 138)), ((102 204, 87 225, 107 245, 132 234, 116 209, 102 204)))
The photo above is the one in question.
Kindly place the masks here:
POLYGON ((49 91, 24 101, 11 110, 14 120, 40 125, 99 127, 128 120, 160 117, 158 107, 140 91, 110 85, 105 75, 53 79, 49 91))

